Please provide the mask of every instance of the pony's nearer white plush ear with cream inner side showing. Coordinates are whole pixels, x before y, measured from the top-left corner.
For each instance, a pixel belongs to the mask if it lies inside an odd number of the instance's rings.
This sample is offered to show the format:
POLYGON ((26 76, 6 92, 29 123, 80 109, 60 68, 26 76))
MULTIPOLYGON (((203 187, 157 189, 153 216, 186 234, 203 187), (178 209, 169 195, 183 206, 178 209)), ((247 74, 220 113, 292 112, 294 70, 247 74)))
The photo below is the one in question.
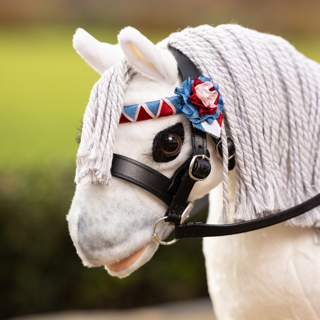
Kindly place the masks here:
POLYGON ((177 61, 172 53, 154 45, 135 28, 122 29, 118 42, 124 57, 143 76, 167 83, 174 83, 178 79, 177 61))

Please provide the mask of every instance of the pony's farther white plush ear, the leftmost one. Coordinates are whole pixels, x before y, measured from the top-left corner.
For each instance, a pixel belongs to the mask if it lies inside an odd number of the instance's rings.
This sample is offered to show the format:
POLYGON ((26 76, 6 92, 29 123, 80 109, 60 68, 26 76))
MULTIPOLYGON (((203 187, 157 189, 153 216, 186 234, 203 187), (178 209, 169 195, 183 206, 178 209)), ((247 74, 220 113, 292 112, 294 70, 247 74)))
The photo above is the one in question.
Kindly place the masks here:
POLYGON ((73 36, 73 47, 100 75, 124 57, 119 44, 100 42, 81 28, 78 28, 73 36))

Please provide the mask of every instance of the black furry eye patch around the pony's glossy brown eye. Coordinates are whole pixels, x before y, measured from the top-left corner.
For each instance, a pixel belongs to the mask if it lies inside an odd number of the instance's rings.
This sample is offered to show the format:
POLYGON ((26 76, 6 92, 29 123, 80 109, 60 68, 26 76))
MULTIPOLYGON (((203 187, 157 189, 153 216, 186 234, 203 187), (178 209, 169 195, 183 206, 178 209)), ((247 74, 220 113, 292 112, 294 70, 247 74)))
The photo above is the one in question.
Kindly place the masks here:
POLYGON ((155 162, 170 162, 177 158, 184 142, 183 124, 178 122, 160 132, 153 139, 152 157, 155 162))

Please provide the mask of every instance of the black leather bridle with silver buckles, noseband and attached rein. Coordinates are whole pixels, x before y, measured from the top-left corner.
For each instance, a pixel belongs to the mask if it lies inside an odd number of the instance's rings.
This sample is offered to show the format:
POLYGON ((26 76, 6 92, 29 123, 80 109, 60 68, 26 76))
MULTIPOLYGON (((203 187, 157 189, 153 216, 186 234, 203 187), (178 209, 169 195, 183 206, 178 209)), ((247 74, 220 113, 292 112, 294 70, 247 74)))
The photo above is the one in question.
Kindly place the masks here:
MULTIPOLYGON (((194 80, 201 75, 194 63, 182 52, 173 47, 169 47, 169 50, 178 62, 182 81, 188 77, 194 80)), ((227 225, 209 225, 200 222, 181 224, 181 217, 187 210, 187 200, 193 186, 196 181, 206 179, 211 172, 206 133, 194 128, 193 125, 190 127, 193 154, 174 172, 171 179, 145 164, 118 154, 113 155, 111 167, 112 176, 146 189, 168 205, 162 220, 175 224, 175 239, 226 236, 257 230, 294 218, 320 205, 320 194, 318 194, 302 204, 260 219, 227 225)), ((216 144, 217 155, 222 160, 221 140, 214 137, 212 139, 216 144)), ((227 142, 228 169, 232 170, 235 166, 235 146, 231 137, 228 137, 227 142)))

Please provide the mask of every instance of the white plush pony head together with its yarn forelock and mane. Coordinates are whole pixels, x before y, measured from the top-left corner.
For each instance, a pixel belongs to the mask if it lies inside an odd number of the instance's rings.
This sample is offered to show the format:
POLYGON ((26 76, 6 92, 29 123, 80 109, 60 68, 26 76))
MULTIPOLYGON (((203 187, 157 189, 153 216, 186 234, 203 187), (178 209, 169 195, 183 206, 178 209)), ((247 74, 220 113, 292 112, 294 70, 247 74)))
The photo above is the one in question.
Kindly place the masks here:
MULTIPOLYGON (((123 106, 172 97, 181 86, 168 45, 219 83, 225 102, 223 123, 236 149, 233 221, 279 212, 320 192, 317 63, 280 37, 237 25, 186 28, 157 45, 128 27, 118 41, 102 44, 82 29, 74 36, 77 52, 102 75, 84 114, 77 187, 68 214, 71 237, 86 266, 106 266, 111 275, 124 277, 147 262, 158 247, 151 241, 152 227, 167 206, 144 189, 111 177, 110 168, 116 153, 170 178, 192 154, 190 122, 182 114, 118 125, 123 106), (161 158, 155 143, 164 132, 180 135, 182 142, 179 153, 168 161, 161 158)), ((228 152, 223 142, 226 130, 222 124, 222 146, 228 152)), ((217 186, 223 172, 226 209, 227 157, 222 166, 214 147, 207 135, 212 171, 196 183, 189 200, 217 186)), ((227 215, 224 210, 223 223, 228 222, 227 215)), ((319 228, 320 211, 314 208, 288 223, 319 228)), ((165 227, 159 224, 159 235, 165 227)))

